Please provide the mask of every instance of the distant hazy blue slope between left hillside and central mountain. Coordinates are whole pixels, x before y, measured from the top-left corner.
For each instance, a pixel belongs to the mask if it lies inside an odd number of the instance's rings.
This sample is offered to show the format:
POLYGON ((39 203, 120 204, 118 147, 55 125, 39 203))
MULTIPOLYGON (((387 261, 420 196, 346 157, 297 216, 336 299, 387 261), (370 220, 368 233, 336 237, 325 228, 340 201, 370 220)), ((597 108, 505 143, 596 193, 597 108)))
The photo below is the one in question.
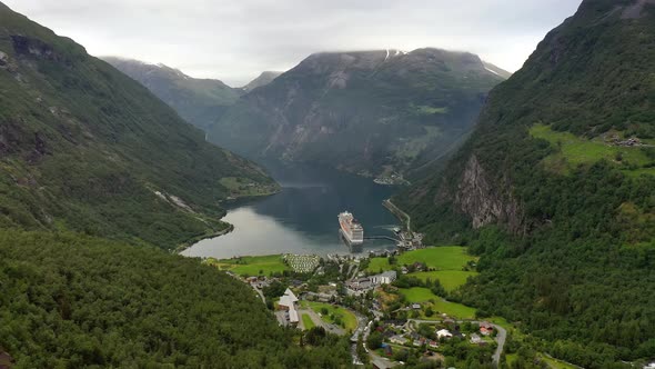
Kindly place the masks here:
POLYGON ((213 79, 195 79, 164 64, 103 57, 104 61, 145 86, 191 124, 206 129, 232 106, 240 89, 213 79))

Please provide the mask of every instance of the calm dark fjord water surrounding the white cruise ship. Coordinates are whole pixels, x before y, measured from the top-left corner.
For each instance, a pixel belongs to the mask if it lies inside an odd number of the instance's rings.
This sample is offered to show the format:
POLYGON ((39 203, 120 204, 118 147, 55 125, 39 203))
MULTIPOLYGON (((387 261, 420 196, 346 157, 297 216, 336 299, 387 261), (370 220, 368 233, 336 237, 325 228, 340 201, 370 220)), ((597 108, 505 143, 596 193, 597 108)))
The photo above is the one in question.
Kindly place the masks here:
POLYGON ((349 253, 393 248, 386 240, 366 240, 351 250, 341 239, 336 216, 349 210, 362 222, 365 236, 392 236, 397 220, 382 206, 394 187, 330 169, 268 164, 282 186, 272 197, 234 203, 225 221, 234 231, 202 240, 182 255, 231 258, 270 253, 349 253))

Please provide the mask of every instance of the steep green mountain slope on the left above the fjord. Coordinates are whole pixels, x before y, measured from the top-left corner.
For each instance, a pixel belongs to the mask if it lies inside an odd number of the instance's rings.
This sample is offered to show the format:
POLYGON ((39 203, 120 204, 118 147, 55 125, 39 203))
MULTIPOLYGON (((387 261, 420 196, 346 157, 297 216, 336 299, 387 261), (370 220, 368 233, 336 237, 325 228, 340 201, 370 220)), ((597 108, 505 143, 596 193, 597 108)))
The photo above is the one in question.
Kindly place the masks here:
POLYGON ((172 248, 225 227, 218 201, 233 190, 221 179, 274 190, 81 46, 7 7, 0 24, 0 227, 172 248))

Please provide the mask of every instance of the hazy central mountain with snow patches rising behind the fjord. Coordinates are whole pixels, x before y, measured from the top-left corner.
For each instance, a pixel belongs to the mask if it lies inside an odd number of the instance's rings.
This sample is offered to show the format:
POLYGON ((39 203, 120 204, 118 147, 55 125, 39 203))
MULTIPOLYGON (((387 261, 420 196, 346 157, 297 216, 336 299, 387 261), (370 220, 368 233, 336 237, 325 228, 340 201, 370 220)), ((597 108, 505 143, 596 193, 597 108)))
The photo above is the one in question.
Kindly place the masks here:
POLYGON ((502 80, 466 52, 316 53, 241 97, 209 140, 250 158, 404 172, 456 144, 502 80))

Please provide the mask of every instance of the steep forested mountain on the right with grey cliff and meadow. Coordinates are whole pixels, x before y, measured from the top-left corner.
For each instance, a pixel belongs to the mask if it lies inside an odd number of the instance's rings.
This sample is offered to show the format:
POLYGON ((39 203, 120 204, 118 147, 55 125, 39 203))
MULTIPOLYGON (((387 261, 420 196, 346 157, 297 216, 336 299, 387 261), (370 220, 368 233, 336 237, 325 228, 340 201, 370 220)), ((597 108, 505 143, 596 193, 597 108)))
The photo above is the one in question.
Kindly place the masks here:
POLYGON ((654 58, 653 1, 583 1, 395 199, 430 241, 481 255, 453 298, 586 368, 655 353, 654 58))

